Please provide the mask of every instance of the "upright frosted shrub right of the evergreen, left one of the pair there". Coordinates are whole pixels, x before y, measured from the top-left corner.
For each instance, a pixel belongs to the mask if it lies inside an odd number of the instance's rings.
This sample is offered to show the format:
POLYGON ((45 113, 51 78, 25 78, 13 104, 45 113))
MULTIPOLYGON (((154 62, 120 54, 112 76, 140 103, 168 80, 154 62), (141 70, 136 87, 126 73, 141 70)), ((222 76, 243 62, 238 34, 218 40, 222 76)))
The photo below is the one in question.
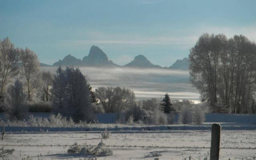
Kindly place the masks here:
POLYGON ((192 108, 188 106, 182 106, 179 113, 179 122, 181 124, 190 124, 193 120, 192 108))

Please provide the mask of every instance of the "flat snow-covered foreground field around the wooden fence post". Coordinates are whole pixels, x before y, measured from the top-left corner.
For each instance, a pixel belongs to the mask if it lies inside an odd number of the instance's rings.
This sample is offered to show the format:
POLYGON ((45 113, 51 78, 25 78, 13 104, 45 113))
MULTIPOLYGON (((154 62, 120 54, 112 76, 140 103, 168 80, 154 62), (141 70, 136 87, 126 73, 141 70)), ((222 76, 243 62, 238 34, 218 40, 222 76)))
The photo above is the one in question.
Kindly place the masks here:
MULTIPOLYGON (((91 155, 67 154, 70 145, 97 145, 101 141, 99 131, 7 133, 0 148, 14 148, 10 160, 30 156, 33 160, 89 160, 91 155)), ((112 156, 97 160, 154 160, 150 152, 159 151, 159 160, 182 160, 192 156, 203 160, 210 154, 210 130, 169 131, 118 131, 104 139, 112 156)), ((253 159, 256 157, 255 130, 223 130, 221 133, 221 160, 253 159)), ((94 158, 95 159, 95 158, 94 158)))

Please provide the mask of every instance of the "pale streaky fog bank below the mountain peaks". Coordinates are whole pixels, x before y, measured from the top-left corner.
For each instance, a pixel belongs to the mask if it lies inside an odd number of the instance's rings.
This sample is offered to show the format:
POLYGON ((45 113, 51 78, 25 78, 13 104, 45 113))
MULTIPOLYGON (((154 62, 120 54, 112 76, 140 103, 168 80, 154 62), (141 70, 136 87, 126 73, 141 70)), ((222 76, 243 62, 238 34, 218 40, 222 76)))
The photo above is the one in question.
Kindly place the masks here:
MULTIPOLYGON (((55 73, 57 67, 41 67, 55 73)), ((188 99, 198 102, 199 93, 189 83, 189 73, 183 70, 92 68, 80 67, 95 89, 100 86, 120 86, 134 91, 137 99, 160 98, 170 94, 171 99, 188 99)))

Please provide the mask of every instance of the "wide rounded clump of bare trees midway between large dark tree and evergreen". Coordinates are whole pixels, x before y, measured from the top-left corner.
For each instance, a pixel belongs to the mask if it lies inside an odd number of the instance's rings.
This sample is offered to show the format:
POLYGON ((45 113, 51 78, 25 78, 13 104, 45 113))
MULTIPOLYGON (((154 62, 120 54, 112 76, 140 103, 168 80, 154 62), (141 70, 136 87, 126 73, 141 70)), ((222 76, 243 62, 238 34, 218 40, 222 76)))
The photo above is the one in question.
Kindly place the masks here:
POLYGON ((99 87, 95 90, 105 112, 122 112, 134 105, 135 94, 132 90, 120 87, 99 87))

